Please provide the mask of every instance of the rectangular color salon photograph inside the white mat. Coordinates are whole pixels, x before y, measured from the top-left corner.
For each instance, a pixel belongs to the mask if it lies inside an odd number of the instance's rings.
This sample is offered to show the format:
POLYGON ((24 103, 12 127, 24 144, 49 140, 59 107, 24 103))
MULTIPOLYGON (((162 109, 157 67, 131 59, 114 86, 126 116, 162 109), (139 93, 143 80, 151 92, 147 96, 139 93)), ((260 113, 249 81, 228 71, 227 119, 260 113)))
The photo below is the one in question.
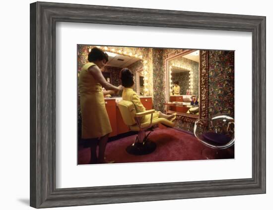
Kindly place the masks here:
POLYGON ((235 51, 77 45, 77 163, 233 159, 235 51))

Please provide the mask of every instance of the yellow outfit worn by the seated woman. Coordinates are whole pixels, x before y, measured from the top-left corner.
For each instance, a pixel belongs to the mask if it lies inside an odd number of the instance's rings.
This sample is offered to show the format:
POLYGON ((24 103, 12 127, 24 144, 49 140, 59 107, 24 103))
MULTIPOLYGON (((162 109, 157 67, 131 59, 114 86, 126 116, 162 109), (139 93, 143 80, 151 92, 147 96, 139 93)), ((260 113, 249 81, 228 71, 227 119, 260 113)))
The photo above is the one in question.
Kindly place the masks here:
MULTIPOLYGON (((137 96, 136 92, 132 88, 124 88, 123 89, 122 99, 125 101, 133 102, 133 104, 135 105, 135 108, 136 108, 136 113, 146 111, 145 107, 140 102, 139 96, 137 96)), ((159 112, 155 111, 152 115, 152 118, 156 119, 156 118, 158 118, 158 116, 159 116, 159 112)), ((151 120, 151 115, 147 114, 142 118, 141 123, 149 122, 150 120, 151 120)))

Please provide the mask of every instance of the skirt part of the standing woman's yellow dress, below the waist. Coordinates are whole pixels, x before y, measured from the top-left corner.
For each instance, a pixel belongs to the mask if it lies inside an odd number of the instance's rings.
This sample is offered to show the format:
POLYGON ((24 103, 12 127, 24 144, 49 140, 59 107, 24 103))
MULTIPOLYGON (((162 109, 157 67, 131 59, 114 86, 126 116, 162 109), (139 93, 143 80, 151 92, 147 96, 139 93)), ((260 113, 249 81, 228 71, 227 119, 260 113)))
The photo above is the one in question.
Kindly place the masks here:
POLYGON ((82 139, 99 138, 112 132, 102 91, 81 93, 80 109, 82 139))

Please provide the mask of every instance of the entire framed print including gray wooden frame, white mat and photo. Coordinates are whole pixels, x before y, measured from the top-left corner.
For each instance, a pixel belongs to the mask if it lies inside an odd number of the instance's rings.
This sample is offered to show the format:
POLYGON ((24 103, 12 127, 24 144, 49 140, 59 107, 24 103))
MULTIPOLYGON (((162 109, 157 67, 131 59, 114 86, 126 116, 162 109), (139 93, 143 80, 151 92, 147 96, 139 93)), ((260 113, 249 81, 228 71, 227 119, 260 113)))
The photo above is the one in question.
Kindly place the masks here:
POLYGON ((265 32, 263 16, 30 4, 30 205, 265 193, 265 32))

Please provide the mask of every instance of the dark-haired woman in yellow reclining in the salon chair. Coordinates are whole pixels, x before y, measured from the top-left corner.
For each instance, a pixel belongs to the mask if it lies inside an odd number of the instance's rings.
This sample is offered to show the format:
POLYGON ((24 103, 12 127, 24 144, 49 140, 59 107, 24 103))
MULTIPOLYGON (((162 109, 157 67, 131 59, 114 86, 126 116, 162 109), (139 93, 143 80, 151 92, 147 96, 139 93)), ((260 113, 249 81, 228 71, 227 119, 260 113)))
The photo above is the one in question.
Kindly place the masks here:
MULTIPOLYGON (((136 112, 145 111, 145 107, 140 102, 140 99, 136 92, 133 90, 135 81, 134 81, 134 74, 129 68, 123 68, 120 72, 120 79, 122 82, 122 86, 124 87, 122 93, 122 99, 125 101, 133 102, 136 108, 136 112)), ((165 119, 173 121, 176 118, 176 113, 167 115, 163 114, 161 111, 155 111, 152 115, 152 118, 163 117, 165 119)), ((150 114, 145 115, 141 122, 148 122, 150 121, 150 114)))

